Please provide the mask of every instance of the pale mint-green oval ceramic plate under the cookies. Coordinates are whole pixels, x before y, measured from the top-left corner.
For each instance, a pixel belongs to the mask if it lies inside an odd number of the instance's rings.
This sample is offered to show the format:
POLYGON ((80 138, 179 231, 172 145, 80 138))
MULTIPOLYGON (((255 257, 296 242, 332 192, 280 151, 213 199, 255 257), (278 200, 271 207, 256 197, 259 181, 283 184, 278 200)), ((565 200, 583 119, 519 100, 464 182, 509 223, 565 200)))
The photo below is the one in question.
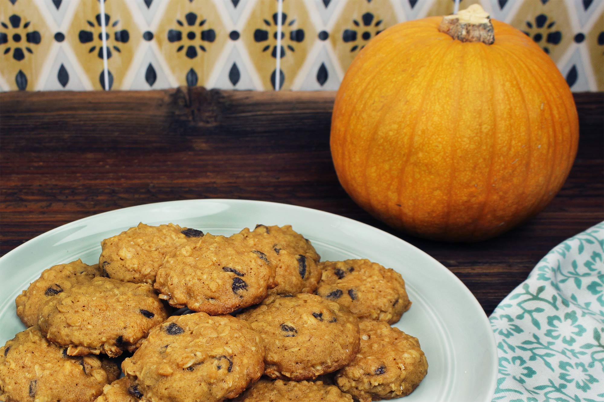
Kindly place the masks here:
POLYGON ((98 263, 100 242, 143 222, 176 223, 215 235, 242 228, 292 225, 312 241, 321 260, 368 258, 403 276, 411 309, 395 325, 416 336, 428 359, 428 375, 414 401, 490 401, 495 390, 497 354, 486 314, 464 284, 434 258, 384 231, 355 220, 271 202, 182 200, 132 206, 60 226, 0 258, 0 345, 25 329, 14 299, 42 270, 82 258, 98 263))

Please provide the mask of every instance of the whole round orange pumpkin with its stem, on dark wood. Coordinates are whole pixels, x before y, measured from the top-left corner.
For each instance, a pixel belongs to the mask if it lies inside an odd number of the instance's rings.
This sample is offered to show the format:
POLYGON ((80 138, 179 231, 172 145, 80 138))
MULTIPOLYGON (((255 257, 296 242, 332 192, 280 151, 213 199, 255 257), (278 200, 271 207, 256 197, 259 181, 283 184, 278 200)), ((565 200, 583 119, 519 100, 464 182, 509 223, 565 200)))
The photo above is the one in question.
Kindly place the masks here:
POLYGON ((371 40, 339 87, 330 136, 338 179, 358 205, 447 241, 495 237, 545 208, 578 141, 556 65, 479 5, 371 40))

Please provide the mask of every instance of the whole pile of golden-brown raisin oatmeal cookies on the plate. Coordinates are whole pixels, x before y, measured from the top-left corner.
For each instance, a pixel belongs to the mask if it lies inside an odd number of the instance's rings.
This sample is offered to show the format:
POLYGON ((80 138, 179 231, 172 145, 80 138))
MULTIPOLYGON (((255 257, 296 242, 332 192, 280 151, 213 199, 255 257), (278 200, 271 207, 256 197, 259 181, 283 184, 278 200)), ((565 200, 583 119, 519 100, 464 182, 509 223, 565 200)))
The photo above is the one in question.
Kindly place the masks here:
POLYGON ((0 400, 364 402, 428 371, 390 326, 411 306, 399 273, 320 261, 289 225, 141 223, 101 249, 18 296, 28 329, 0 348, 0 400))

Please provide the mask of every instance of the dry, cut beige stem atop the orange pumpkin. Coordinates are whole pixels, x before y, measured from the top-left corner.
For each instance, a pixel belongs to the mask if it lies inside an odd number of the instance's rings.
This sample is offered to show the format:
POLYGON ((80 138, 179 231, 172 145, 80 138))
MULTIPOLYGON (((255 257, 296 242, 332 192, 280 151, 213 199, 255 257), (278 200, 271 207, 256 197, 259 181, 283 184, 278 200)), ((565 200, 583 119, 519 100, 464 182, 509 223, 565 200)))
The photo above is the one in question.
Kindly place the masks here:
POLYGON ((487 45, 495 42, 489 13, 478 4, 472 4, 457 14, 444 16, 439 31, 461 42, 483 42, 487 45))

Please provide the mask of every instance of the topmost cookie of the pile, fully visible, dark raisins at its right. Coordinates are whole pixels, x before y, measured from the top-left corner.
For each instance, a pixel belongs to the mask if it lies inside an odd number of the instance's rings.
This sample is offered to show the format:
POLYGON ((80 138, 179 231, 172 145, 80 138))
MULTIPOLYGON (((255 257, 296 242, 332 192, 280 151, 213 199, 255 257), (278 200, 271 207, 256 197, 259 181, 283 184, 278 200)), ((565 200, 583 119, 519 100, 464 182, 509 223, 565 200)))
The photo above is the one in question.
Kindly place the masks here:
POLYGON ((266 254, 242 239, 211 234, 172 250, 155 281, 159 298, 211 315, 257 304, 276 285, 266 254))

